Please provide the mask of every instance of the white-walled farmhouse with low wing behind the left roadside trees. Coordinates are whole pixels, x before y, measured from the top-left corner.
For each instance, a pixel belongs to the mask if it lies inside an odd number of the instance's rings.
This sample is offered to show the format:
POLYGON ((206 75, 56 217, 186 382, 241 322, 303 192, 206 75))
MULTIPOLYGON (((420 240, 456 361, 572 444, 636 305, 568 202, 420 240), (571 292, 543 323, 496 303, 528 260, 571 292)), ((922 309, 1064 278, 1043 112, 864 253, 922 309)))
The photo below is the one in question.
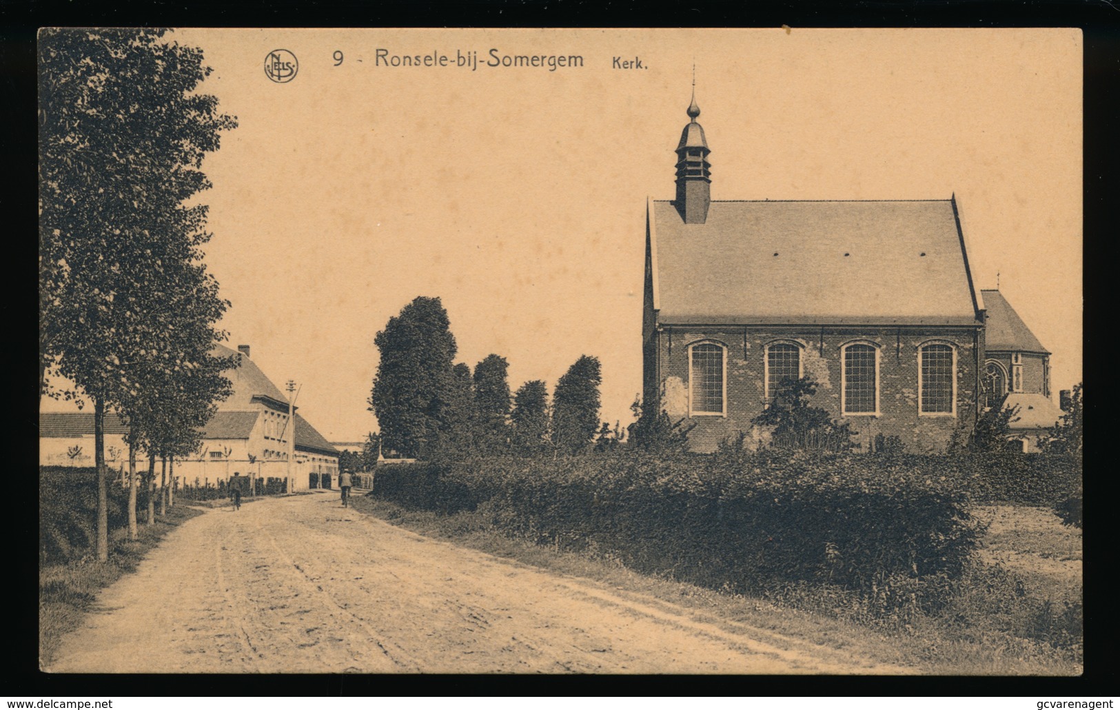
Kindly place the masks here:
MULTIPOLYGON (((176 459, 175 478, 180 485, 216 484, 234 471, 254 478, 288 475, 292 436, 288 399, 250 359, 248 345, 237 349, 215 345, 212 351, 222 357, 237 356, 239 365, 224 373, 233 384, 233 393, 218 403, 218 411, 206 423, 200 448, 185 459, 176 459)), ((293 429, 293 488, 330 487, 338 475, 338 450, 298 411, 293 429)), ((116 414, 105 415, 105 458, 119 471, 128 467, 127 431, 116 414)), ((92 412, 39 413, 40 465, 93 466, 93 443, 92 412)), ((144 465, 138 461, 138 466, 144 465)))

